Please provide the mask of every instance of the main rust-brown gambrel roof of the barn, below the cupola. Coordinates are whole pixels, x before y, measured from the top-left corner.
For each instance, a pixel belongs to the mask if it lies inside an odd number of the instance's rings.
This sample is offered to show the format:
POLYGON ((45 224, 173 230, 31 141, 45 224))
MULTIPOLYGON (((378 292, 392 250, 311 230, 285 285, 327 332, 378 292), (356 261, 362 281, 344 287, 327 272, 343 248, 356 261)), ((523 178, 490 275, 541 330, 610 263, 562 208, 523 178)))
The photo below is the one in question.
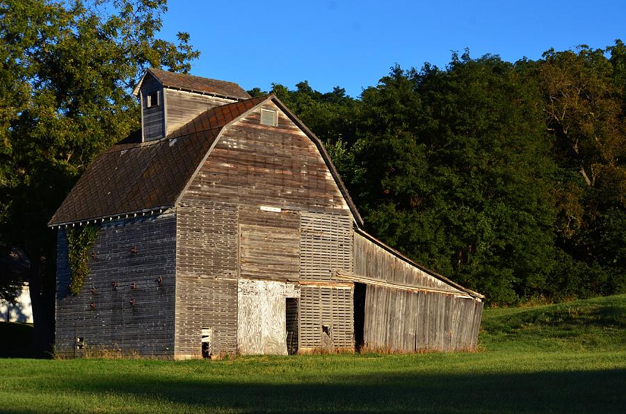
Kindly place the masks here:
POLYGON ((268 100, 284 110, 314 142, 355 221, 362 224, 358 210, 319 138, 278 98, 269 95, 211 108, 162 140, 117 144, 104 151, 89 165, 48 225, 105 220, 175 206, 209 156, 223 128, 268 100))

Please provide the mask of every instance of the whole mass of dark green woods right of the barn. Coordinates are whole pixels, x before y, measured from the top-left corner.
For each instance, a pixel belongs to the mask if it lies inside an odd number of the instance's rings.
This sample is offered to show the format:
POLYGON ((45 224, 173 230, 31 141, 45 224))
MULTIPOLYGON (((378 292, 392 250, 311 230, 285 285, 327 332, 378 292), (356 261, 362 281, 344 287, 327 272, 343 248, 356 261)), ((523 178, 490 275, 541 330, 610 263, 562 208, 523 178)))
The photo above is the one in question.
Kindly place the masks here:
POLYGON ((618 40, 396 66, 360 99, 272 92, 326 142, 372 233, 512 304, 626 290, 625 79, 618 40))

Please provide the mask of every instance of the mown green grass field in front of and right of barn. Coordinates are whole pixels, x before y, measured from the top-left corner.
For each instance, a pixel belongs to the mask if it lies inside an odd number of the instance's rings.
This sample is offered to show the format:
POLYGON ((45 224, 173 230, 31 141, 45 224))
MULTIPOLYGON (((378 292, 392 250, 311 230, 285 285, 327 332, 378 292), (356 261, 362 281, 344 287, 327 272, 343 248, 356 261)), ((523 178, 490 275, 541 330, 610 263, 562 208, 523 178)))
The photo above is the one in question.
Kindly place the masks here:
POLYGON ((626 412, 626 295, 488 309, 479 343, 474 354, 0 359, 0 411, 626 412))

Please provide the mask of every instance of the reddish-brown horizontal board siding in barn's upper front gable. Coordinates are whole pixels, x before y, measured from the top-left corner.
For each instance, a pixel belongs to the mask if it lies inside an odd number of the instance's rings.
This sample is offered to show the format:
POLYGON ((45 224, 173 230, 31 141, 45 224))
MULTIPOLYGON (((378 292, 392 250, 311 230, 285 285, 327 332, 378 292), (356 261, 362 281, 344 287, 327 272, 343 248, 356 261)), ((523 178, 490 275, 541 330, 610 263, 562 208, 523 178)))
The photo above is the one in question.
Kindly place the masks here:
POLYGON ((257 110, 222 134, 186 194, 242 206, 350 214, 315 144, 282 113, 271 127, 261 125, 257 110))

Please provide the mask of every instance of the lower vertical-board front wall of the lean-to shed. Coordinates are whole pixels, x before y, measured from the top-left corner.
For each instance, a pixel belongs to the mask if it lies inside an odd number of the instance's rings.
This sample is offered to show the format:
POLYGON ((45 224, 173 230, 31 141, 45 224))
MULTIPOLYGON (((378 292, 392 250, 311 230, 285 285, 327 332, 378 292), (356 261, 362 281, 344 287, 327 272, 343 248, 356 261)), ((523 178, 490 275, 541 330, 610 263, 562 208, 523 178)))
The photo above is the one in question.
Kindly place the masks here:
POLYGON ((456 295, 368 285, 364 341, 369 349, 474 351, 483 304, 456 295))

